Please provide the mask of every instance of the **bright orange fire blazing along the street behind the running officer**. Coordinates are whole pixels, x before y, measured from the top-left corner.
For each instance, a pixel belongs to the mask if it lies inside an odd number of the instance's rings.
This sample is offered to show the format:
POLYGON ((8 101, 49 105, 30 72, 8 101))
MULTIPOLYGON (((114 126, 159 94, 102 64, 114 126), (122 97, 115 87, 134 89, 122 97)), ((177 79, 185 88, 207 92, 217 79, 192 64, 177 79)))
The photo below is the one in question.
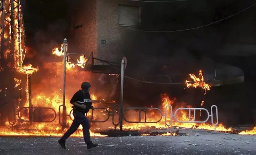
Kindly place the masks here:
MULTIPOLYGON (((5 0, 5 11, 11 12, 10 10, 10 1, 5 0)), ((31 78, 32 74, 35 72, 39 72, 39 68, 33 67, 31 64, 24 65, 23 60, 25 57, 25 34, 24 34, 24 28, 23 28, 23 20, 22 20, 22 13, 21 13, 21 6, 17 4, 17 2, 14 1, 14 25, 11 26, 11 19, 10 17, 5 17, 4 22, 4 38, 5 40, 5 46, 6 51, 4 51, 5 60, 9 60, 10 57, 12 60, 14 60, 13 64, 11 62, 7 62, 6 67, 14 68, 17 72, 21 74, 27 75, 27 82, 26 82, 26 100, 23 101, 24 107, 29 107, 29 78, 31 78), (14 29, 12 29, 14 27, 14 29), (14 37, 13 37, 14 36, 14 37), (10 38, 10 39, 8 39, 10 38), (14 47, 14 50, 12 49, 14 47), (11 53, 11 54, 10 54, 11 53)), ((3 40, 2 40, 3 41, 3 40)), ((60 50, 59 48, 54 48, 52 50, 52 54, 56 56, 64 56, 63 52, 63 45, 61 45, 60 50)), ((66 86, 66 100, 64 101, 66 104, 66 110, 67 114, 70 114, 71 118, 74 118, 71 110, 71 104, 69 104, 69 100, 72 97, 72 95, 77 91, 77 89, 80 87, 80 83, 82 81, 89 81, 88 79, 90 76, 89 72, 85 71, 78 71, 75 68, 75 66, 80 66, 81 68, 85 68, 85 64, 87 62, 87 59, 84 55, 81 55, 79 59, 76 59, 76 62, 71 62, 71 59, 68 56, 68 63, 66 63, 67 67, 67 86, 66 86)), ((74 60, 73 60, 74 61, 74 60)), ((2 66, 1 66, 2 68, 2 66)), ((68 129, 68 127, 71 125, 72 120, 67 118, 66 128, 64 130, 61 129, 60 123, 58 118, 59 116, 56 116, 56 114, 59 114, 59 106, 62 105, 62 81, 63 81, 63 62, 45 62, 43 69, 48 70, 47 76, 41 79, 40 83, 35 85, 35 88, 33 88, 33 96, 31 96, 31 102, 32 106, 30 108, 33 109, 34 115, 33 115, 33 122, 32 125, 29 123, 29 110, 23 109, 22 107, 18 107, 16 109, 18 115, 16 115, 16 123, 14 125, 10 125, 8 121, 6 121, 6 127, 0 128, 0 135, 19 135, 19 136, 62 136, 63 133, 68 129), (40 109, 41 108, 41 109, 40 109), (43 111, 42 108, 48 108, 43 111), (49 109, 51 108, 51 109, 49 109), (41 111, 42 110, 42 111, 41 111), (38 116, 40 115, 40 116, 38 116), (54 115, 56 117, 54 117, 54 115), (38 123, 39 121, 40 123, 38 123), (48 122, 42 122, 42 121, 48 121, 48 122)), ((2 70, 2 69, 1 69, 2 70)), ((119 76, 116 74, 109 74, 111 76, 119 76)), ((44 76, 43 74, 41 76, 44 76)), ((203 90, 205 90, 204 95, 206 95, 206 91, 209 91, 211 86, 208 85, 204 81, 204 76, 202 74, 202 70, 199 71, 199 76, 196 77, 194 74, 189 74, 190 78, 193 80, 191 83, 190 81, 186 80, 186 87, 200 87, 203 90)), ((21 85, 21 79, 14 78, 14 81, 16 82, 14 88, 17 88, 21 85)), ((4 89, 4 88, 2 88, 4 89)), ((0 92, 3 92, 2 89, 0 92)), ((8 88, 5 88, 5 93, 8 88)), ((20 89, 20 88, 19 88, 20 89)), ((21 90, 21 89, 20 89, 21 90)), ((6 94, 5 94, 6 95, 6 94)), ((100 99, 96 95, 91 95, 92 100, 105 100, 100 99)), ((186 105, 186 103, 181 102, 178 103, 176 99, 171 99, 166 94, 161 95, 162 104, 160 107, 158 107, 162 112, 165 112, 165 107, 167 105, 173 106, 173 112, 178 108, 186 108, 186 107, 192 107, 190 105, 186 105)), ((112 101, 112 103, 115 103, 115 101, 112 101)), ((203 106, 204 100, 202 101, 201 106, 203 106)), ((23 107, 23 108, 24 108, 23 107)), ((97 108, 97 106, 95 106, 97 108)), ((107 110, 111 111, 110 107, 105 107, 107 110)), ((93 112, 93 120, 101 119, 103 117, 107 117, 107 110, 95 110, 93 112)), ((116 113, 114 115, 114 120, 118 120, 118 112, 116 110, 112 110, 113 113, 116 113)), ((171 113, 170 109, 167 109, 167 113, 163 113, 167 115, 167 122, 170 122, 171 119, 169 118, 169 114, 171 113)), ((192 112, 193 113, 193 112, 192 112)), ((142 114, 142 121, 145 121, 145 113, 142 114)), ((62 115, 62 110, 60 110, 60 115, 62 115)), ((88 117, 90 118, 92 116, 91 111, 88 113, 88 117)), ((128 120, 138 120, 138 111, 131 111, 129 113, 127 119, 128 120)), ((193 119, 194 116, 192 115, 191 118, 193 119)), ((177 119, 179 121, 190 121, 188 111, 186 110, 180 110, 177 112, 177 119)), ((159 120, 159 112, 155 110, 148 110, 147 111, 147 122, 152 121, 158 121, 159 120)), ((93 133, 96 130, 99 129, 112 129, 112 120, 109 119, 105 123, 94 123, 93 126, 96 127, 96 129, 91 129, 91 136, 106 136, 101 135, 97 133, 93 133)), ((93 127, 92 126, 92 127, 93 127)), ((214 127, 211 124, 207 123, 178 123, 174 120, 172 120, 172 126, 177 127, 185 127, 185 128, 192 128, 192 129, 208 129, 208 130, 214 130, 214 127)), ((165 125, 165 120, 162 118, 158 123, 126 123, 124 122, 123 129, 129 130, 129 129, 166 129, 168 128, 165 125), (150 126, 150 127, 149 127, 150 126)), ((82 136, 83 133, 81 132, 82 127, 79 127, 79 130, 75 132, 72 136, 82 136)), ((117 127, 118 129, 118 127, 117 127)), ((223 124, 219 124, 216 127, 217 131, 232 131, 231 128, 226 128, 223 124)), ((255 134, 256 133, 256 127, 253 130, 244 131, 240 134, 255 134)), ((146 136, 149 134, 142 134, 142 136, 146 136)), ((165 134, 162 134, 161 136, 176 136, 176 133, 167 132, 165 134)))

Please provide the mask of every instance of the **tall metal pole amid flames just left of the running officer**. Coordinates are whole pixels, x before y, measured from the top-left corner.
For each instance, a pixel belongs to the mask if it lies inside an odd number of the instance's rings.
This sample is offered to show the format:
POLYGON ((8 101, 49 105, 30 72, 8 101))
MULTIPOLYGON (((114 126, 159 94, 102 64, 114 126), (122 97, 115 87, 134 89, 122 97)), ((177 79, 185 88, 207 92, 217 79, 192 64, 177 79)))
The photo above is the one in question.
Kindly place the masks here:
POLYGON ((63 51, 64 51, 64 58, 63 58, 63 65, 64 65, 64 71, 63 71, 63 96, 62 96, 62 129, 64 129, 66 125, 66 107, 65 107, 65 94, 66 94, 66 53, 67 53, 67 39, 64 39, 63 42, 63 51))

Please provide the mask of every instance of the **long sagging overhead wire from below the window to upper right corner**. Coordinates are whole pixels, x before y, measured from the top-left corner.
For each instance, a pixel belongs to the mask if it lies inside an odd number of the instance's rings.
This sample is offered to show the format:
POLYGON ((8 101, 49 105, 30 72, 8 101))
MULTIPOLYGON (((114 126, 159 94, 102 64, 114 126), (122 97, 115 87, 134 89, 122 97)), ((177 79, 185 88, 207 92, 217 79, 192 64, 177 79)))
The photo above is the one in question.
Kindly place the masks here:
POLYGON ((242 13, 243 11, 246 11, 246 10, 249 9, 249 8, 252 8, 252 7, 255 6, 255 5, 256 5, 256 3, 252 4, 251 6, 245 8, 245 9, 243 9, 243 10, 241 10, 241 11, 239 11, 239 12, 233 14, 233 15, 230 15, 230 16, 228 16, 228 17, 226 17, 226 18, 220 19, 220 20, 218 20, 218 21, 215 21, 215 22, 213 22, 213 23, 209 23, 209 24, 206 24, 206 25, 194 27, 194 28, 188 28, 188 29, 182 29, 182 30, 172 30, 172 31, 149 31, 149 30, 135 30, 135 29, 130 29, 130 30, 140 31, 140 32, 157 32, 157 33, 161 33, 161 32, 180 32, 180 31, 194 30, 194 29, 197 29, 197 28, 206 27, 206 26, 213 25, 213 24, 215 24, 215 23, 224 21, 224 20, 226 20, 226 19, 228 19, 228 18, 230 18, 230 17, 233 17, 233 16, 235 16, 235 15, 237 15, 237 14, 239 14, 239 13, 242 13))

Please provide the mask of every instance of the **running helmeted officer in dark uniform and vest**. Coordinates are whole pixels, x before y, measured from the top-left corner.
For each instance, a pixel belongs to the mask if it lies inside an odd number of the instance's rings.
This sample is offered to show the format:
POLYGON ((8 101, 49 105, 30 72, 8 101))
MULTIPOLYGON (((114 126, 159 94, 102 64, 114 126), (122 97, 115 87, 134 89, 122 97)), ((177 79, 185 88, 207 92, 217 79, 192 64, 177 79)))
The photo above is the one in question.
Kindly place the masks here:
POLYGON ((81 88, 83 90, 88 89, 88 92, 79 90, 76 92, 73 97, 70 100, 70 103, 78 103, 78 104, 85 104, 86 108, 82 109, 78 106, 73 106, 73 115, 74 115, 74 120, 72 125, 70 126, 70 129, 67 130, 67 132, 62 136, 60 140, 58 140, 59 144, 63 147, 66 148, 65 146, 65 141, 70 137, 80 125, 83 126, 83 138, 85 143, 87 144, 87 148, 90 149, 92 147, 96 147, 97 144, 93 144, 91 142, 90 138, 90 123, 87 117, 85 117, 85 113, 89 112, 89 110, 92 108, 92 102, 91 102, 91 96, 89 94, 89 89, 91 85, 87 82, 82 83, 81 88))

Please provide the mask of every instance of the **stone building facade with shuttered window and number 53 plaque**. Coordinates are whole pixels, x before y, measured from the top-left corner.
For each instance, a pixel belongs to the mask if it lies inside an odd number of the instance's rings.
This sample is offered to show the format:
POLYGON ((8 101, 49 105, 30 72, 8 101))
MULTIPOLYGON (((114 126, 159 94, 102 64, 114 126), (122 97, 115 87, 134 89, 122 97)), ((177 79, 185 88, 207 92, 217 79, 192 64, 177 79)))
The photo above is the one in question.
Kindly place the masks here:
POLYGON ((119 62, 127 28, 140 27, 140 2, 128 0, 79 0, 73 6, 70 49, 88 58, 119 62))

